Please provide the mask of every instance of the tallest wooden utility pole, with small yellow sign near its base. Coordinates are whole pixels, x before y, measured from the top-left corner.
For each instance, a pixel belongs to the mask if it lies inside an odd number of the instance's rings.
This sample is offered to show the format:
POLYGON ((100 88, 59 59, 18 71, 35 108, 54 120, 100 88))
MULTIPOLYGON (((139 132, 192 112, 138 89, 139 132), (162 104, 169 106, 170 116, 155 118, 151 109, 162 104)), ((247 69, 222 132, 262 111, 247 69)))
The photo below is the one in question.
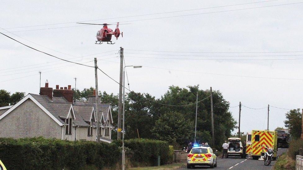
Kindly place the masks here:
MULTIPOLYGON (((123 82, 123 48, 120 47, 120 85, 119 85, 119 108, 118 108, 118 134, 117 140, 121 139, 121 118, 122 118, 122 82, 123 82)), ((123 108, 124 109, 124 108, 123 108)))

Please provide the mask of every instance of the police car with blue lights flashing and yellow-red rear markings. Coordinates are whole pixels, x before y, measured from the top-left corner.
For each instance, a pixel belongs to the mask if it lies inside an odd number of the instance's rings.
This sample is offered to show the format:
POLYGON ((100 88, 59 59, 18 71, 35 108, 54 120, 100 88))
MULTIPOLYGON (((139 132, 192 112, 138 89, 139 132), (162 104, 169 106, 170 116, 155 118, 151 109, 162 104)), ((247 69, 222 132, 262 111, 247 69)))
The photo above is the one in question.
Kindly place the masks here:
POLYGON ((209 146, 195 146, 187 155, 187 168, 195 165, 217 167, 217 156, 209 146))

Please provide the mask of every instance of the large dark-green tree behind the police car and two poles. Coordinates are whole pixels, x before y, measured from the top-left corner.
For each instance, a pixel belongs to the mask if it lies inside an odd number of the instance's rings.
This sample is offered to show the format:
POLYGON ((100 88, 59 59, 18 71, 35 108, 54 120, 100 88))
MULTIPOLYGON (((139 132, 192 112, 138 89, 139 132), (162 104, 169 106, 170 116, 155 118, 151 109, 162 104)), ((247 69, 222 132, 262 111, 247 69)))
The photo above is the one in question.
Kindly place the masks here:
MULTIPOLYGON (((197 114, 197 133, 211 132, 211 111, 210 111, 210 94, 203 90, 199 90, 199 85, 180 88, 178 86, 170 86, 169 90, 162 96, 161 102, 170 105, 187 105, 196 102, 198 93, 198 114, 197 114), (201 131, 201 132, 200 132, 201 131)), ((230 135, 236 127, 236 121, 228 111, 229 102, 226 101, 220 91, 213 91, 213 108, 214 108, 214 131, 215 146, 221 148, 222 143, 230 135)), ((195 122, 196 104, 184 107, 161 107, 161 113, 175 111, 183 114, 192 123, 195 122)), ((192 127, 194 129, 194 126, 192 127)), ((192 141, 194 134, 192 134, 192 141)), ((209 142, 211 144, 211 142, 209 142)))

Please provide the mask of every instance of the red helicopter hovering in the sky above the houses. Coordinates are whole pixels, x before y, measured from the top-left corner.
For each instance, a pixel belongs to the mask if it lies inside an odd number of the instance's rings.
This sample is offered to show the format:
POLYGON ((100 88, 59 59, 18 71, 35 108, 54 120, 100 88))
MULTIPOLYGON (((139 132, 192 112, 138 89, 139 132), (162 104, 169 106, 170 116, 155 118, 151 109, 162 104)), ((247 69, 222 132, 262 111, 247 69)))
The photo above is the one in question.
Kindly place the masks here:
MULTIPOLYGON (((78 23, 78 24, 89 24, 89 23, 78 23)), ((117 26, 115 31, 113 31, 111 28, 108 28, 107 25, 114 25, 114 24, 90 24, 90 25, 103 25, 103 28, 101 28, 97 32, 97 40, 95 44, 102 44, 103 42, 107 42, 107 44, 115 44, 111 42, 111 36, 114 35, 116 39, 118 40, 118 37, 120 36, 120 30, 119 30, 119 22, 117 22, 117 26)), ((123 32, 121 33, 123 37, 123 32)))

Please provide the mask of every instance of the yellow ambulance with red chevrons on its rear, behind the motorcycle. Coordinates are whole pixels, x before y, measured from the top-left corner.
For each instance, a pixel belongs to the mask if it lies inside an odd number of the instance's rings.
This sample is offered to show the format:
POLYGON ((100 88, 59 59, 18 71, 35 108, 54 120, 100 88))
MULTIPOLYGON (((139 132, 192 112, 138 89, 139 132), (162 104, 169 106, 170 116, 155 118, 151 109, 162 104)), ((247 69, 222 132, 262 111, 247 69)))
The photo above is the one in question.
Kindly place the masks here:
MULTIPOLYGON (((248 136, 248 134, 247 134, 248 136)), ((264 156, 268 148, 273 149, 273 159, 277 158, 277 132, 269 130, 252 130, 251 131, 251 156, 254 160, 264 156)), ((246 153, 247 153, 246 149, 246 153)))

